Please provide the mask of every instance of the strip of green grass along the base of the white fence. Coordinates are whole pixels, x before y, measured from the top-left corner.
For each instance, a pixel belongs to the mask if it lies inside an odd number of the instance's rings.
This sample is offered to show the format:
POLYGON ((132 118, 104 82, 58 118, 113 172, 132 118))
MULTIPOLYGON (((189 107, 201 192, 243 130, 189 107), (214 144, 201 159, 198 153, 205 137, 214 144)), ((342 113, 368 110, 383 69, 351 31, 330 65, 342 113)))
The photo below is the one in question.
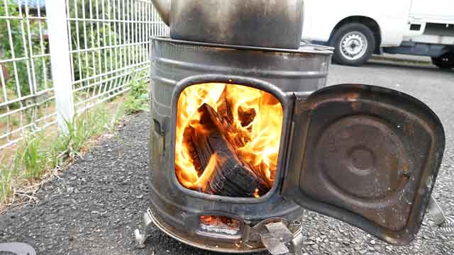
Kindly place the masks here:
MULTIPOLYGON (((124 103, 116 108, 103 103, 66 122, 67 132, 36 132, 18 144, 13 166, 0 162, 0 207, 13 196, 14 186, 26 186, 40 181, 49 170, 82 157, 89 151, 94 138, 113 132, 114 126, 126 114, 148 110, 148 89, 145 82, 133 82, 124 103)), ((111 104, 109 105, 111 106, 111 104)))

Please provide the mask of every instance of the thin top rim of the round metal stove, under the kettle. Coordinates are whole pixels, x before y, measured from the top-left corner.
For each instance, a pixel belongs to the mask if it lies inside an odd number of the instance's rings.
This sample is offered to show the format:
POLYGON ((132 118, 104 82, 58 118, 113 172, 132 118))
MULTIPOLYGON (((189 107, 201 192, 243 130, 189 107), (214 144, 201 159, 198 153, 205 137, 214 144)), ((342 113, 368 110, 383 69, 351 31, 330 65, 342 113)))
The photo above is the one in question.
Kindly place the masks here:
POLYGON ((308 42, 301 41, 301 45, 298 49, 284 49, 284 48, 271 48, 271 47, 254 47, 254 46, 242 46, 242 45, 226 45, 217 44, 210 42, 196 42, 189 40, 175 40, 166 36, 152 36, 151 43, 153 41, 162 41, 170 43, 178 43, 184 45, 204 46, 204 47, 218 47, 227 48, 232 50, 251 50, 261 52, 282 52, 282 53, 303 53, 303 54, 320 54, 320 55, 333 55, 334 47, 325 45, 316 45, 308 42))

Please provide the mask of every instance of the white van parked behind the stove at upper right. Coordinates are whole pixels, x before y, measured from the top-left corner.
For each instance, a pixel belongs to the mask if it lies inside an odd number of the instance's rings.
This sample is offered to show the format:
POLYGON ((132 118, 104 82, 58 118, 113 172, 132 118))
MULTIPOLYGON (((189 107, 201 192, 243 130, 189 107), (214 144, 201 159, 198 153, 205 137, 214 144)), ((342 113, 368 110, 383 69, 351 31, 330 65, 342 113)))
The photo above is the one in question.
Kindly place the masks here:
POLYGON ((306 0, 303 40, 336 48, 333 61, 360 65, 375 54, 432 57, 454 67, 454 0, 306 0))

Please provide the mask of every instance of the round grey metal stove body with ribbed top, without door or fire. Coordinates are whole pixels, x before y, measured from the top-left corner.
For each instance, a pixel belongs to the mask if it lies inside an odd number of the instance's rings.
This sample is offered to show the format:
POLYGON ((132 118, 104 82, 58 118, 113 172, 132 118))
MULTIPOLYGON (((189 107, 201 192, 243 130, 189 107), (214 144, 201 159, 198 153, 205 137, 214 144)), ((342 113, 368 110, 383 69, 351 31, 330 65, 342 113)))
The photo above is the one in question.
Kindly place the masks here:
MULTIPOLYGON (((182 187, 175 176, 176 101, 191 84, 226 82, 255 86, 272 92, 284 108, 284 130, 292 112, 290 97, 310 94, 326 84, 331 51, 306 46, 300 50, 269 50, 252 47, 214 47, 176 40, 153 40, 151 77, 150 203, 162 229, 182 242, 204 249, 240 252, 262 249, 243 245, 244 222, 256 225, 270 218, 297 220, 302 209, 280 193, 280 181, 262 198, 213 196, 182 187), (189 79, 187 79, 190 77, 189 79), (271 84, 275 84, 272 86, 271 84), (198 229, 199 215, 228 216, 240 221, 240 236, 210 237, 198 229), (201 244, 203 240, 203 245, 201 244)), ((289 137, 289 134, 284 134, 289 137)), ((288 139, 283 139, 282 148, 288 139)), ((279 166, 286 152, 279 153, 279 166)), ((278 174, 282 174, 280 169, 278 174)), ((280 180, 279 177, 277 180, 280 180)), ((260 237, 259 237, 260 239, 260 237)))

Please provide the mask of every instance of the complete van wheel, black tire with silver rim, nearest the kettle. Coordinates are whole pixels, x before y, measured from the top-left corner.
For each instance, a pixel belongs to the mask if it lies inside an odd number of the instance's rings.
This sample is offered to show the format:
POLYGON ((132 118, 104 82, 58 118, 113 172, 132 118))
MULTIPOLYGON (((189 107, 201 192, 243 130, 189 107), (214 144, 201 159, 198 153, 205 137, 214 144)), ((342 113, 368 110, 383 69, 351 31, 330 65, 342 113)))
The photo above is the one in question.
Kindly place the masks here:
POLYGON ((375 36, 370 28, 361 23, 347 23, 336 31, 330 39, 334 47, 333 62, 360 66, 369 60, 375 50, 375 36))

